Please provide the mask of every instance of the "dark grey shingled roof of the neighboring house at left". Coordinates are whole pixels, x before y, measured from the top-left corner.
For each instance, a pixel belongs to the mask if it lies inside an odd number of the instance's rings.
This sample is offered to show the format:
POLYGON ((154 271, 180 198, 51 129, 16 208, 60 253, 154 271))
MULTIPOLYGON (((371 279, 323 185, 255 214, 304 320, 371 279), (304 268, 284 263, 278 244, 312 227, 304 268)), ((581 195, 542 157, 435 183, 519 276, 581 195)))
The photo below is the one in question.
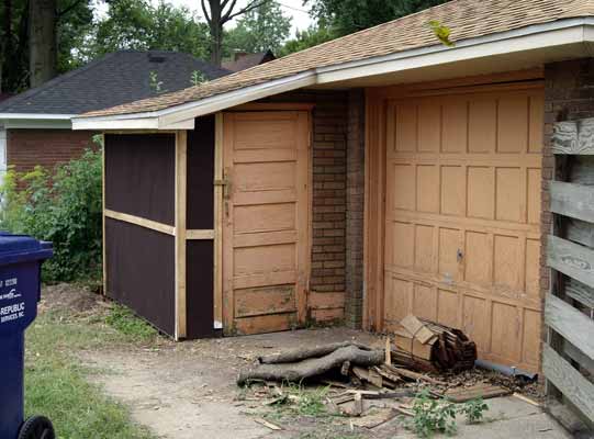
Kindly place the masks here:
POLYGON ((183 53, 115 52, 0 102, 0 119, 5 113, 72 115, 153 97, 150 71, 164 91, 181 90, 191 86, 194 70, 208 79, 229 74, 183 53))

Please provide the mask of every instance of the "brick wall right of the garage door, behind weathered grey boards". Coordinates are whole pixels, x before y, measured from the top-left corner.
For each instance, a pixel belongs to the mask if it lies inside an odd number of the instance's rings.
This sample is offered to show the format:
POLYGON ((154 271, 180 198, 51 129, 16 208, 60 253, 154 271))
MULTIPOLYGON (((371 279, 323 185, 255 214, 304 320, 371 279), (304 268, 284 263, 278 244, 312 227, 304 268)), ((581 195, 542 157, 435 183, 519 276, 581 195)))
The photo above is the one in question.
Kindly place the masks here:
POLYGON ((550 270, 546 267, 547 235, 552 227, 548 182, 554 172, 551 153, 552 125, 594 116, 594 58, 554 63, 545 66, 545 148, 542 155, 542 215, 540 289, 542 297, 550 289, 550 270))

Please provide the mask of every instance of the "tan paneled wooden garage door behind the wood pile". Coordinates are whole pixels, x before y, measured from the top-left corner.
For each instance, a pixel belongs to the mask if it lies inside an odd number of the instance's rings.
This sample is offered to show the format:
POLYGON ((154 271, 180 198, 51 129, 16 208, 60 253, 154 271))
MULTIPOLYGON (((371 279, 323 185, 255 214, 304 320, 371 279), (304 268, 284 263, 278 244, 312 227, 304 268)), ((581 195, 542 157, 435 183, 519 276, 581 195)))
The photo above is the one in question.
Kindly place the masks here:
POLYGON ((536 370, 543 93, 509 89, 389 103, 383 320, 460 327, 536 370))

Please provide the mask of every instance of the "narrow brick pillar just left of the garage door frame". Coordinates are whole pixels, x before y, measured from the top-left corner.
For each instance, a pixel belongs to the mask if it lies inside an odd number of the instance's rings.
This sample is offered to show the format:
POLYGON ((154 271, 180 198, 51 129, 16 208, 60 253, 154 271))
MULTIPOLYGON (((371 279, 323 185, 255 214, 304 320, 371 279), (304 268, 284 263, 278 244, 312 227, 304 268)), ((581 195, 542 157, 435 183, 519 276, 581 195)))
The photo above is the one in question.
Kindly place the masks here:
POLYGON ((365 91, 348 95, 345 323, 360 328, 363 312, 365 91))

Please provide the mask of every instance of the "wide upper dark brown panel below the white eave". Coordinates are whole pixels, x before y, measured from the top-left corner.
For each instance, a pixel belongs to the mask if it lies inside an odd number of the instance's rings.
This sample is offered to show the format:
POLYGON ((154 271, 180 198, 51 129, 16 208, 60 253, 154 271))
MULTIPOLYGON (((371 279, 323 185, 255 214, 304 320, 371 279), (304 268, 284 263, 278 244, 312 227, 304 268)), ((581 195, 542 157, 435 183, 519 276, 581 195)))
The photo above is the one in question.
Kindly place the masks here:
POLYGON ((173 134, 105 135, 105 209, 175 223, 173 134))

